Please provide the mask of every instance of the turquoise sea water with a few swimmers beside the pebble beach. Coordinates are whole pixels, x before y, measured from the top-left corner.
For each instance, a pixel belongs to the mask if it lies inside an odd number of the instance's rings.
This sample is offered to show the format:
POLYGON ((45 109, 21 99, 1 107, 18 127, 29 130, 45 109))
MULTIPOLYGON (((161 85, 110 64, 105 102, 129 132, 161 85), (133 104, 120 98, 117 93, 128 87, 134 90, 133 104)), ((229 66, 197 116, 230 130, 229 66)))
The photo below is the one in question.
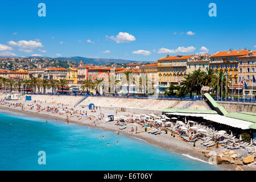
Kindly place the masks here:
POLYGON ((111 131, 0 113, 0 170, 218 168, 111 131), (98 139, 102 135, 105 139, 98 139), (38 164, 39 151, 46 152, 46 165, 38 164))

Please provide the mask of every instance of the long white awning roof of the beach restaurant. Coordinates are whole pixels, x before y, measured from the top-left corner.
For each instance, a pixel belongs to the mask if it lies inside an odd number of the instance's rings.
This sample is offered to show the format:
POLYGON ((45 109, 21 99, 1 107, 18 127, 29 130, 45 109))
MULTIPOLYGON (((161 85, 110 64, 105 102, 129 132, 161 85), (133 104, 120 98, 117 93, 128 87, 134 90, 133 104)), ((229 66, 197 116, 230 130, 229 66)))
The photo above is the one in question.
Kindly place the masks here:
POLYGON ((241 119, 229 118, 229 117, 225 117, 224 115, 218 115, 218 114, 196 114, 196 113, 166 113, 166 114, 202 117, 209 121, 221 123, 223 125, 228 125, 228 126, 232 126, 232 127, 237 127, 242 130, 250 129, 249 126, 251 124, 253 124, 252 122, 249 122, 249 121, 243 121, 241 119))

